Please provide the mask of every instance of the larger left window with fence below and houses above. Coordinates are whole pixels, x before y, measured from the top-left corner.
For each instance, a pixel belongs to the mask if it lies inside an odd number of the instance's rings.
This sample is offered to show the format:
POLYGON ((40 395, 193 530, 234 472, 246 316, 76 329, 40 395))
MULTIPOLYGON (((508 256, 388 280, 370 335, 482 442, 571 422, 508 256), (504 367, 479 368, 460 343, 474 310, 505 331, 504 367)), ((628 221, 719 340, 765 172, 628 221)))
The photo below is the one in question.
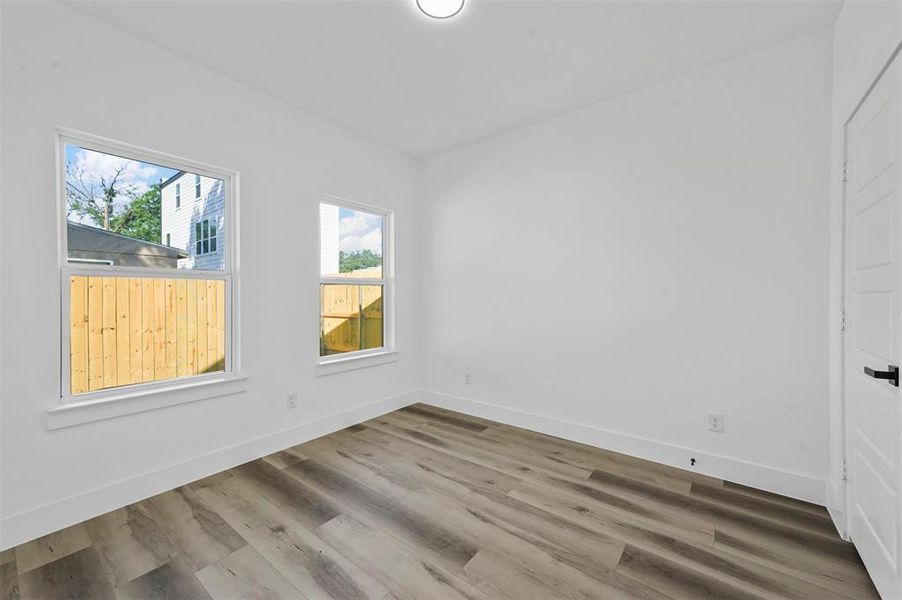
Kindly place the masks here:
POLYGON ((91 136, 60 162, 62 400, 231 371, 233 175, 91 136))

